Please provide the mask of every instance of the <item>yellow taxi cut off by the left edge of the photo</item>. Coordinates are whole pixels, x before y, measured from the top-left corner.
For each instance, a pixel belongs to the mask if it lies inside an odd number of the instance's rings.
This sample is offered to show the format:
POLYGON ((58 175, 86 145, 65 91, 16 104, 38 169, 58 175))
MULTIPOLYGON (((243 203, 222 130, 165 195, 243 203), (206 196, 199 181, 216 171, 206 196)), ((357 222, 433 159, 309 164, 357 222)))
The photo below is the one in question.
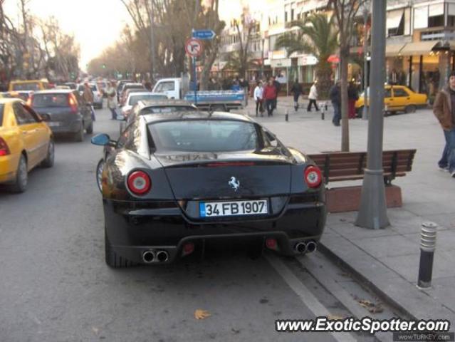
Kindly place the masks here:
POLYGON ((19 98, 0 98, 0 184, 24 192, 28 171, 52 167, 53 135, 48 125, 19 98))

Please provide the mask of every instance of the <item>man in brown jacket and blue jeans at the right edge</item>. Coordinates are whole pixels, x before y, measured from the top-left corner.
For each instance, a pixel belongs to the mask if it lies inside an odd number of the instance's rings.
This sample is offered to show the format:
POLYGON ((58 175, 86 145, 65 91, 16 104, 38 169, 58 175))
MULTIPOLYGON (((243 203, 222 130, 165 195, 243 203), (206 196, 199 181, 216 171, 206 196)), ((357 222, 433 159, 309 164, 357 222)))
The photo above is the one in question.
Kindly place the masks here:
POLYGON ((450 172, 455 178, 455 71, 450 73, 449 85, 434 100, 433 113, 441 124, 446 145, 438 162, 440 170, 450 172))

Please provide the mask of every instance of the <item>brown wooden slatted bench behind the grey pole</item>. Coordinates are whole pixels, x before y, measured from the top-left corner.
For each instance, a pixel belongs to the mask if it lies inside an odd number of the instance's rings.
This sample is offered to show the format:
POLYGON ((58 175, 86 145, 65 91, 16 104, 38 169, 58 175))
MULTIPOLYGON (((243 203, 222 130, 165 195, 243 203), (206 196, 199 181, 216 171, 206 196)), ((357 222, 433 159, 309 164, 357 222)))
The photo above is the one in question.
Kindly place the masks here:
MULTIPOLYGON (((417 150, 390 150, 382 152, 382 168, 386 185, 387 207, 401 207, 401 189, 392 185, 395 177, 404 177, 412 170, 417 150)), ((323 173, 324 182, 362 180, 367 165, 367 152, 323 152, 308 155, 323 173)), ((360 186, 328 189, 329 212, 357 210, 361 197, 360 186)))

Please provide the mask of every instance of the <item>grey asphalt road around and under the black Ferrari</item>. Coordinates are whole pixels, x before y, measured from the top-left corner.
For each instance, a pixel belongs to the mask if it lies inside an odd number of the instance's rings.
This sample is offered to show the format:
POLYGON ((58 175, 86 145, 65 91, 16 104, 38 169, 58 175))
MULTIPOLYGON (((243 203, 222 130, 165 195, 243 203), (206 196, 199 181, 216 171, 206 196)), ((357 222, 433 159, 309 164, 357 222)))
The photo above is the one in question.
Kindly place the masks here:
MULTIPOLYGON (((95 133, 116 138, 118 123, 109 118, 97 111, 95 133)), ((203 261, 110 269, 95 186, 100 155, 90 136, 58 139, 53 168, 33 170, 21 195, 0 191, 0 341, 359 338, 276 333, 279 318, 350 316, 296 259, 253 259, 234 246, 203 261), (197 320, 197 309, 211 316, 197 320)))

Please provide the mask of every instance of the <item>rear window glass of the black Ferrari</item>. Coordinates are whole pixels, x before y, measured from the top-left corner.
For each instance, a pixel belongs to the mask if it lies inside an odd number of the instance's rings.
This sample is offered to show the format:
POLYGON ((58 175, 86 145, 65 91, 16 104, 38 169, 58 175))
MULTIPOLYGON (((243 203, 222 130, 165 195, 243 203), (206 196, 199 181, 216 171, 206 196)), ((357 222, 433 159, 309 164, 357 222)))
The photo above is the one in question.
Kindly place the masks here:
POLYGON ((233 120, 188 120, 148 125, 157 151, 229 152, 256 150, 253 123, 233 120))

